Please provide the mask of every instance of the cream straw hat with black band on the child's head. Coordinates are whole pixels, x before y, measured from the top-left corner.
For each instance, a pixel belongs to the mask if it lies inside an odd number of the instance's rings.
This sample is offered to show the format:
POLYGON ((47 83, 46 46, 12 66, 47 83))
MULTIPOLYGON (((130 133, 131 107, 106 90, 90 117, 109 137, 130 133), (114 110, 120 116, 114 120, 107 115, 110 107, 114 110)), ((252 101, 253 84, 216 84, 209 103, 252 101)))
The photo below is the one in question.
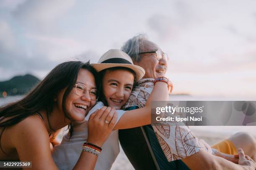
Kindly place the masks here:
POLYGON ((118 49, 111 49, 105 52, 99 59, 98 63, 92 64, 97 72, 111 67, 127 67, 133 70, 136 74, 136 81, 140 80, 145 75, 145 70, 133 65, 131 57, 125 52, 118 49))

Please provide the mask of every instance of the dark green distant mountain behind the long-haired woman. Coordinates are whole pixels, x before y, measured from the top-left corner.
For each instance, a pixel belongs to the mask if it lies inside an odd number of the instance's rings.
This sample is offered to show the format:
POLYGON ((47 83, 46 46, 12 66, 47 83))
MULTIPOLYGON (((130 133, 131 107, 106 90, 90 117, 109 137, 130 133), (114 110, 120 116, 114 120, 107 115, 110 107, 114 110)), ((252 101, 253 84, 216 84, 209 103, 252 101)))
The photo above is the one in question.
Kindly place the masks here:
POLYGON ((3 97, 6 93, 7 96, 26 94, 33 86, 37 85, 38 82, 40 82, 40 80, 30 74, 15 76, 10 80, 0 82, 0 97, 3 97))

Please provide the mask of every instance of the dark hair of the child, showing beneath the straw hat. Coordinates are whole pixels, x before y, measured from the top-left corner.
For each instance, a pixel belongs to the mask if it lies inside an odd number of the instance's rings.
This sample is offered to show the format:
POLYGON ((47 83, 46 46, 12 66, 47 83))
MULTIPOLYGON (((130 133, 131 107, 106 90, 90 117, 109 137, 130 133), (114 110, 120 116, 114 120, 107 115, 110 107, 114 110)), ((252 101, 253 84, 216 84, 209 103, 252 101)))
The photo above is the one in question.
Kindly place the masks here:
POLYGON ((104 90, 103 90, 103 87, 102 87, 102 80, 103 80, 103 77, 105 76, 107 70, 109 71, 114 71, 114 70, 126 70, 126 71, 129 71, 133 74, 133 77, 134 77, 134 80, 133 80, 133 87, 134 87, 134 84, 136 82, 136 74, 135 72, 130 69, 130 68, 127 68, 127 67, 110 67, 110 68, 107 68, 107 69, 104 69, 104 70, 101 70, 100 72, 98 72, 98 77, 100 77, 99 79, 97 79, 97 87, 99 89, 99 101, 102 101, 104 103, 105 106, 108 106, 108 102, 106 100, 106 97, 104 95, 104 90))

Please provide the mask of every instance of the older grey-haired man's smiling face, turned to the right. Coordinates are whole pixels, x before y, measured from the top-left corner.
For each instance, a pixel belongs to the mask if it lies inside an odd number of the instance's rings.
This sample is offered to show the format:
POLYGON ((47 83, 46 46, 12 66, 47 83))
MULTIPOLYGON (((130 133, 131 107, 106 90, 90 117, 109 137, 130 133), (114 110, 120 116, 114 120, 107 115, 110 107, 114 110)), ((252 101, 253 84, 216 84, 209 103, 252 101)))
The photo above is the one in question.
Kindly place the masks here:
MULTIPOLYGON (((157 51, 160 48, 153 42, 145 41, 143 46, 140 47, 141 52, 157 51)), ((139 62, 134 61, 135 65, 141 66, 145 70, 143 78, 158 78, 165 76, 167 70, 167 61, 162 58, 160 61, 157 60, 155 53, 141 54, 141 60, 139 62)))

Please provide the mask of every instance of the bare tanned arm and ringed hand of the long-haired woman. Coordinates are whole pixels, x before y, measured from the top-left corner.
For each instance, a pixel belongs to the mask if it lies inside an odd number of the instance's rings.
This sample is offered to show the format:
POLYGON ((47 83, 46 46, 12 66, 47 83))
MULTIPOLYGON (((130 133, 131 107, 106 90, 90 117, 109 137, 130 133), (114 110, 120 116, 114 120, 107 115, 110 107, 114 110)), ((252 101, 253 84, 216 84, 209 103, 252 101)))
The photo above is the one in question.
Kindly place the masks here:
MULTIPOLYGON (((104 109, 102 109, 98 115, 102 115, 103 112, 104 109)), ((113 130, 116 121, 116 114, 113 114, 113 118, 109 124, 104 124, 104 121, 103 118, 91 121, 90 125, 93 130, 89 130, 90 136, 88 135, 88 142, 99 145, 101 147, 101 145, 105 142, 113 130), (95 122, 96 125, 92 125, 95 122), (95 133, 95 130, 98 133, 95 133)), ((8 133, 15 134, 10 135, 10 140, 13 148, 17 150, 21 161, 32 161, 32 167, 36 170, 58 169, 54 163, 53 158, 51 157, 49 135, 44 126, 44 123, 38 116, 27 117, 25 120, 8 129, 8 133)), ((74 169, 93 170, 96 161, 96 155, 83 151, 74 169)))

